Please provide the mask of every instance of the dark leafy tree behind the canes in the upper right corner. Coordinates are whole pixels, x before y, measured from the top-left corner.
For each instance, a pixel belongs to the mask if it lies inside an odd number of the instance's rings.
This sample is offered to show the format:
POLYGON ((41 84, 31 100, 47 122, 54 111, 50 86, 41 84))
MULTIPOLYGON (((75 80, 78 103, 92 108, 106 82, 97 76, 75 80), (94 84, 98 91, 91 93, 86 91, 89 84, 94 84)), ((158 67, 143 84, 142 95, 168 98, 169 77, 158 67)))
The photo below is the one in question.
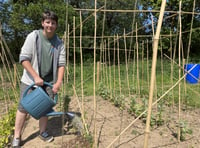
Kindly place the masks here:
MULTIPOLYGON (((144 9, 149 9, 149 10, 159 10, 160 5, 161 5, 162 0, 150 0, 148 2, 142 1, 142 5, 144 9)), ((191 28, 191 22, 192 22, 192 11, 193 11, 193 0, 182 0, 182 6, 181 6, 181 22, 182 22, 182 43, 183 43, 183 50, 184 50, 184 55, 186 57, 187 54, 187 47, 189 43, 189 35, 190 35, 190 28, 191 28), (184 13, 184 12, 189 12, 189 13, 184 13)), ((162 25, 162 31, 161 34, 164 35, 169 35, 170 31, 172 34, 177 34, 179 32, 179 1, 177 0, 169 0, 167 1, 166 9, 165 9, 165 18, 163 21, 162 25)), ((200 4, 196 1, 195 5, 195 12, 200 11, 200 4)), ((154 19, 155 24, 157 24, 158 16, 159 13, 151 13, 154 19)), ((149 13, 149 16, 147 17, 148 19, 151 18, 151 15, 149 13)), ((148 21, 148 19, 146 21, 148 21)), ((194 15, 194 20, 193 20, 193 30, 196 30, 200 25, 200 18, 199 15, 196 14, 194 15)), ((152 30, 149 28, 149 32, 151 33, 152 30)), ((193 54, 197 53, 197 47, 198 47, 198 42, 200 41, 199 38, 199 33, 192 31, 192 44, 190 47, 190 50, 193 54)), ((175 42, 175 37, 173 38, 175 42)), ((165 45, 165 52, 169 49, 169 41, 163 42, 165 45)))

